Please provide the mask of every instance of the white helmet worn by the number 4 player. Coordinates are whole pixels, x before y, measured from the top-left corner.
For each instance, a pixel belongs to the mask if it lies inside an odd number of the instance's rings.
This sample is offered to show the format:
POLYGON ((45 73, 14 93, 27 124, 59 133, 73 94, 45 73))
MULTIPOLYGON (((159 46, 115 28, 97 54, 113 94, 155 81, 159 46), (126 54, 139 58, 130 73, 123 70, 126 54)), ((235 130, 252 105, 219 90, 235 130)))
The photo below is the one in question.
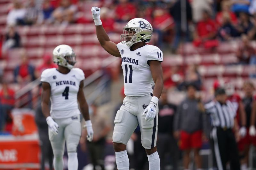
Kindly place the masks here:
POLYGON ((66 44, 61 44, 54 48, 53 52, 53 62, 60 66, 72 69, 76 64, 76 55, 70 46, 66 44))

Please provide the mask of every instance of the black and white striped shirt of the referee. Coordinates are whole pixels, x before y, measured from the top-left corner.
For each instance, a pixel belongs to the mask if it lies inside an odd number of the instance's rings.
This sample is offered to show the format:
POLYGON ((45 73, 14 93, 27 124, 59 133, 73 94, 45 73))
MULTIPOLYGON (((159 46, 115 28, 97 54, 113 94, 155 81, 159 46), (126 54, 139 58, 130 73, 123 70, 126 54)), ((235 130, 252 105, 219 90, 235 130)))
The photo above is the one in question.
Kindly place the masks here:
POLYGON ((236 110, 230 101, 221 104, 218 101, 211 101, 204 105, 207 114, 211 116, 212 126, 221 128, 233 128, 236 110))

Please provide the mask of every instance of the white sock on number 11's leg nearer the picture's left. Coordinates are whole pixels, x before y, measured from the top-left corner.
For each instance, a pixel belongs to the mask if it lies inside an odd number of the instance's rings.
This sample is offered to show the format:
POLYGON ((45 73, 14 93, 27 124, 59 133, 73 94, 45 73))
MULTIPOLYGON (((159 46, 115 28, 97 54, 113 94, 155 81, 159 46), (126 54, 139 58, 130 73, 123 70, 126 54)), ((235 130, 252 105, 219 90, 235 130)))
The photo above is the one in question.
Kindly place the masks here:
POLYGON ((130 162, 126 150, 116 152, 116 166, 118 170, 129 170, 130 162))

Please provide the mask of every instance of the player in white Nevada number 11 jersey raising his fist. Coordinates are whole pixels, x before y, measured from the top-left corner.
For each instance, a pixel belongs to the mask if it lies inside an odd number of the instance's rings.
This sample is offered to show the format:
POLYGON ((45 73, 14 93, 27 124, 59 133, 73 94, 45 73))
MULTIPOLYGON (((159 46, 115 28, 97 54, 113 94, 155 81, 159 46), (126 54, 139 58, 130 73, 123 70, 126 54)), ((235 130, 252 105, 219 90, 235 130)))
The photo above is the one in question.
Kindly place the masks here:
POLYGON ((114 121, 113 147, 117 169, 129 169, 126 144, 139 124, 141 144, 148 155, 149 170, 159 170, 156 137, 158 99, 163 89, 163 52, 156 46, 146 45, 152 37, 153 28, 147 20, 134 18, 124 26, 121 42, 115 44, 110 41, 102 26, 100 8, 92 7, 92 17, 100 45, 109 54, 122 58, 126 97, 114 121))

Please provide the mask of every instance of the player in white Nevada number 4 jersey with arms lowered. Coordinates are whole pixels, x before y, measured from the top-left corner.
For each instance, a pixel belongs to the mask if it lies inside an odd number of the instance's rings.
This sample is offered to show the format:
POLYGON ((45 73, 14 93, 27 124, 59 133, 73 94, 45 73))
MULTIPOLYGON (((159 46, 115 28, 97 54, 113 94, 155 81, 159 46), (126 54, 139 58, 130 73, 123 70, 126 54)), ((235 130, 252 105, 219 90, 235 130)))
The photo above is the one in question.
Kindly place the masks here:
POLYGON ((92 122, 84 97, 84 72, 73 68, 76 63, 74 50, 68 45, 59 45, 53 50, 53 61, 58 68, 42 72, 42 111, 49 125, 55 170, 63 170, 65 141, 68 151, 68 169, 77 170, 77 145, 81 137, 80 110, 85 119, 87 140, 92 141, 92 122), (51 100, 51 110, 49 101, 51 100), (78 103, 80 110, 78 109, 78 103))

